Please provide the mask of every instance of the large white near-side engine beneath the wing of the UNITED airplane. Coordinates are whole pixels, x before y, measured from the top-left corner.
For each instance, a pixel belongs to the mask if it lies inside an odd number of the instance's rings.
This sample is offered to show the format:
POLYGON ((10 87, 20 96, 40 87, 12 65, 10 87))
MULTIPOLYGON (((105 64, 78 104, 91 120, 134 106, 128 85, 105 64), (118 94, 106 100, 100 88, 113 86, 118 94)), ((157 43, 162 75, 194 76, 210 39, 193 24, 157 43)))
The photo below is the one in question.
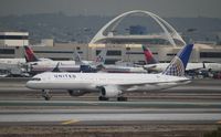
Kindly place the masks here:
POLYGON ((101 93, 104 97, 117 97, 122 94, 122 91, 117 86, 107 85, 101 87, 101 93))

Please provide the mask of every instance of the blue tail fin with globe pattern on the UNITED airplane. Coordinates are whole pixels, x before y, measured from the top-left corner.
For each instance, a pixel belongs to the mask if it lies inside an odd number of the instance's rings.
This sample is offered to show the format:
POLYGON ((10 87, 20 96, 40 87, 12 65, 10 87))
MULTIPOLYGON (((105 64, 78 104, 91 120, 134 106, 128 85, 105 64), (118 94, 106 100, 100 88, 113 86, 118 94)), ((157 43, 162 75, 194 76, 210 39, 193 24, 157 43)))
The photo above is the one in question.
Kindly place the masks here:
POLYGON ((187 63, 192 52, 193 44, 186 45, 172 59, 167 68, 162 72, 164 75, 183 76, 187 63))

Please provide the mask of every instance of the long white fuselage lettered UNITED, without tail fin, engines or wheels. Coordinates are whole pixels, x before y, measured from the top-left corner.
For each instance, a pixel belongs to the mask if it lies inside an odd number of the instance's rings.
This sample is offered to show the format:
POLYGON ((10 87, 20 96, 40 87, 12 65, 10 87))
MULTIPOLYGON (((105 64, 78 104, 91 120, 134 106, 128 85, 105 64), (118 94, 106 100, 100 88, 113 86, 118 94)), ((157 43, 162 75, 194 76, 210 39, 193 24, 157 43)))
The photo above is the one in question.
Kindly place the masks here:
POLYGON ((29 81, 27 86, 35 89, 84 89, 113 85, 123 92, 152 91, 189 83, 189 78, 161 74, 122 73, 42 73, 29 81), (38 80, 38 81, 35 81, 38 80))

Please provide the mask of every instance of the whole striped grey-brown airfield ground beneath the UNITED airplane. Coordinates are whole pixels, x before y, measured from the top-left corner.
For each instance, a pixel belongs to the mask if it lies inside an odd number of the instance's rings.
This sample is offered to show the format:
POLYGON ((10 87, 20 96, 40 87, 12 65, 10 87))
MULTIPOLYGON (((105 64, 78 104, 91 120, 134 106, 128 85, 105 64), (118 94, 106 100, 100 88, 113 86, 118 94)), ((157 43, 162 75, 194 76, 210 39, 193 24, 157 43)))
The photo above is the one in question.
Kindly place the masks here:
POLYGON ((54 91, 52 99, 44 101, 41 91, 28 89, 25 82, 0 80, 0 135, 4 129, 27 135, 25 128, 32 127, 30 135, 45 128, 51 133, 80 128, 83 133, 135 130, 137 136, 140 131, 164 135, 167 129, 170 135, 201 136, 221 125, 221 81, 198 80, 166 91, 129 93, 125 95, 128 102, 99 102, 96 93, 73 97, 65 91, 54 91))

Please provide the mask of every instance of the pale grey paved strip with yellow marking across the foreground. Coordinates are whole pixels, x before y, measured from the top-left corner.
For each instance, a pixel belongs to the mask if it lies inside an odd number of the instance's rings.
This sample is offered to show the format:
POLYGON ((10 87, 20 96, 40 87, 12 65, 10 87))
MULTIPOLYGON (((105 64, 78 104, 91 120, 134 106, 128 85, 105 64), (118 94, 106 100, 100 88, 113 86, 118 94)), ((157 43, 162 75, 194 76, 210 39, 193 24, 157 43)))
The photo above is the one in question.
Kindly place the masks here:
POLYGON ((221 124, 221 109, 0 110, 0 125, 221 124), (22 114, 22 115, 21 115, 22 114))

